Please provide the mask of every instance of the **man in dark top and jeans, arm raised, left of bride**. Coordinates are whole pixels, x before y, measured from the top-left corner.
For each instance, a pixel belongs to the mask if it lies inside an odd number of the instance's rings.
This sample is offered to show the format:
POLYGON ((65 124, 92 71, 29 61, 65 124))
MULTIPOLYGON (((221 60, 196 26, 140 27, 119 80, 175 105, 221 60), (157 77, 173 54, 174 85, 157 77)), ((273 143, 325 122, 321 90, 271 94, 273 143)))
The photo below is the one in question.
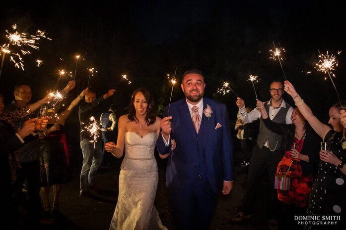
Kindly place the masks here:
MULTIPOLYGON (((90 123, 91 117, 100 117, 101 112, 97 110, 97 106, 114 94, 115 90, 109 90, 107 93, 96 98, 96 92, 88 89, 84 101, 79 104, 78 117, 81 131, 80 132, 80 148, 83 154, 83 165, 80 172, 80 195, 91 197, 90 189, 97 190, 95 185, 95 176, 102 162, 102 139, 100 135, 90 135, 85 127, 90 123)), ((80 96, 82 97, 82 96, 80 96)))

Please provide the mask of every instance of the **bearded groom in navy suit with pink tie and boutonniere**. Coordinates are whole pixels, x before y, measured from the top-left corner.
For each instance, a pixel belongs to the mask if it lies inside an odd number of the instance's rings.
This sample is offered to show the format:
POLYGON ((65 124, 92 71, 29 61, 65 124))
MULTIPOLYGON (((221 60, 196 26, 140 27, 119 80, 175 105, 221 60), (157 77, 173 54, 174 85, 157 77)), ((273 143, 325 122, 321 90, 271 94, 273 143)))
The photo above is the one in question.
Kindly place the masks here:
POLYGON ((233 187, 233 143, 224 104, 203 97, 202 72, 185 71, 185 98, 172 103, 161 120, 157 149, 170 153, 166 185, 177 230, 208 230, 219 192, 233 187), (197 106, 197 108, 196 108, 197 106), (193 112, 197 110, 198 112, 193 112))

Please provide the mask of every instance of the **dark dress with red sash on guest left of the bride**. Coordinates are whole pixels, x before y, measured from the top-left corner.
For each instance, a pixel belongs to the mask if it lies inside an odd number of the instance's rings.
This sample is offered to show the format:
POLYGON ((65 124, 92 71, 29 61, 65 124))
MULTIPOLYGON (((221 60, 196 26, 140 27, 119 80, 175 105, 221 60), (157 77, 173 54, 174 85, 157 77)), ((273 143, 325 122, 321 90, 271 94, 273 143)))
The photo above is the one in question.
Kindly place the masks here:
POLYGON ((59 131, 40 139, 40 151, 41 187, 70 182, 69 150, 64 126, 60 125, 59 131))

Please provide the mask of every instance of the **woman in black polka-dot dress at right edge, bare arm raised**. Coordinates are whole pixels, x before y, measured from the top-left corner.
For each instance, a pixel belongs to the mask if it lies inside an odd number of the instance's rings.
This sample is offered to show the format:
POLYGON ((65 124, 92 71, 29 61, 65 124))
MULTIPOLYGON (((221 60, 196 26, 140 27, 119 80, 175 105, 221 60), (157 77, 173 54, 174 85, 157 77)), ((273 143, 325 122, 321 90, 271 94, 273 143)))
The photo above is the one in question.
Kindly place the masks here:
MULTIPOLYGON (((346 138, 345 128, 340 123, 340 110, 346 107, 346 103, 339 101, 330 107, 328 124, 333 127, 331 129, 317 119, 289 81, 284 82, 284 90, 292 96, 312 129, 324 142, 329 142, 329 149, 319 152, 320 165, 311 190, 307 215, 339 217, 337 225, 328 226, 328 229, 342 229, 346 224, 346 200, 343 198, 346 194, 346 138)), ((307 229, 326 229, 326 226, 308 225, 307 229)))

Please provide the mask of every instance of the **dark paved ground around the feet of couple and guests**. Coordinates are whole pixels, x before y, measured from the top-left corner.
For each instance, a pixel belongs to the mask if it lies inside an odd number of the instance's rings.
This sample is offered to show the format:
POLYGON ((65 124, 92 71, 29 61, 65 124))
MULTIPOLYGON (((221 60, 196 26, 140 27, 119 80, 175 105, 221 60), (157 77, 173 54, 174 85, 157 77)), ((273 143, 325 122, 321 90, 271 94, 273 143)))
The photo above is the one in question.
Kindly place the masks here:
MULTIPOLYGON (((81 169, 82 155, 77 145, 71 147, 70 158, 73 179, 63 187, 60 203, 60 218, 53 226, 42 227, 42 230, 108 230, 111 218, 117 202, 118 176, 120 160, 114 158, 111 169, 101 169, 97 175, 97 185, 100 190, 91 198, 79 196, 79 173, 81 169)), ((235 181, 234 189, 227 196, 221 195, 218 199, 216 213, 210 230, 264 230, 267 219, 263 215, 265 193, 259 188, 258 207, 249 222, 233 224, 230 218, 238 213, 241 205, 243 189, 245 186, 247 167, 239 165, 242 153, 235 153, 235 181)), ((162 224, 169 230, 175 230, 172 216, 167 206, 167 194, 165 187, 165 163, 158 159, 159 184, 155 200, 156 208, 160 214, 162 224)), ((262 186, 268 186, 266 182, 262 186)))

